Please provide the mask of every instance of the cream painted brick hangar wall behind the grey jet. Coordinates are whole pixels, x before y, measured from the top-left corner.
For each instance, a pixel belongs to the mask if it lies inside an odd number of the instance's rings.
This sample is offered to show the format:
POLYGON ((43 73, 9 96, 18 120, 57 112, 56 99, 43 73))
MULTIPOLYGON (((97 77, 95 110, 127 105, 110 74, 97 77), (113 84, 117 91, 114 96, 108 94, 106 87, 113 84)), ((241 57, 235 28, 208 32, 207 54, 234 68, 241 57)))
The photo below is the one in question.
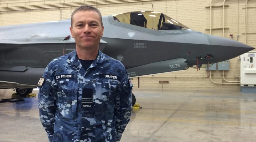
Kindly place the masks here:
MULTIPOLYGON (((0 0, 0 26, 69 19, 77 6, 90 4, 99 8, 103 16, 128 11, 158 11, 193 30, 210 34, 211 26, 212 35, 223 36, 224 1, 224 37, 231 38, 229 35, 233 34, 234 40, 237 40, 239 36, 238 41, 256 48, 255 0, 0 0)), ((225 78, 239 81, 239 67, 239 57, 231 59, 229 71, 225 71, 225 78)), ((215 82, 225 82, 222 71, 212 71, 212 78, 215 82)), ((138 88, 138 78, 133 78, 133 85, 138 88)), ((196 71, 190 68, 185 71, 142 76, 140 88, 239 91, 240 85, 214 84, 207 78, 205 69, 196 71), (159 81, 169 83, 162 84, 159 81)))

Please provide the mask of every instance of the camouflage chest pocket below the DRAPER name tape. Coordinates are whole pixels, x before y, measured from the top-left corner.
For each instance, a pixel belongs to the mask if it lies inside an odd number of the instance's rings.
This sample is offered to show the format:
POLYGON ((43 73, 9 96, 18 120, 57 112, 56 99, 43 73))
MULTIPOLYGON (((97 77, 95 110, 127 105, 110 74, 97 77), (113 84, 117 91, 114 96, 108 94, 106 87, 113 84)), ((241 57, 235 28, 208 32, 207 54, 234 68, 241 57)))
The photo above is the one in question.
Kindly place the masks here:
POLYGON ((120 86, 120 82, 117 80, 106 78, 97 80, 93 96, 96 121, 113 119, 118 86, 120 86))

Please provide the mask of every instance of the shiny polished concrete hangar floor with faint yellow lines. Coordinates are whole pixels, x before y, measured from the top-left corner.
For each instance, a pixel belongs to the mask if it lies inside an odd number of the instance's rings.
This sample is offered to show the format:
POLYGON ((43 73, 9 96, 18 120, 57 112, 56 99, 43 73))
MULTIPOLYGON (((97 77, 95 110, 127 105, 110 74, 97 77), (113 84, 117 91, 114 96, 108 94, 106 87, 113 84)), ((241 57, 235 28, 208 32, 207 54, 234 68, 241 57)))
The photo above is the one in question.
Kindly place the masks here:
MULTIPOLYGON (((33 91, 38 93, 37 90, 33 91)), ((12 89, 0 89, 0 99, 12 89)), ((134 89, 142 109, 132 113, 120 142, 255 142, 256 93, 134 89)), ((46 142, 37 97, 0 103, 0 142, 46 142)))

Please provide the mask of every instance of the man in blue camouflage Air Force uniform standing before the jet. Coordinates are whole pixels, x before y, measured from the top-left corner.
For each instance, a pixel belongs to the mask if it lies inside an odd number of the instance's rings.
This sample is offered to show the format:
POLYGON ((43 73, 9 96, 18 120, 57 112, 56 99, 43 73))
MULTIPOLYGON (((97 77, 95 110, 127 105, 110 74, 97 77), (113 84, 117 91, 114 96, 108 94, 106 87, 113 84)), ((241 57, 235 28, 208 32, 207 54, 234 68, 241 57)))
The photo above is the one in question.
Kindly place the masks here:
POLYGON ((71 16, 76 50, 52 60, 38 82, 40 119, 50 142, 115 142, 130 120, 132 84, 124 65, 99 51, 100 11, 71 16))

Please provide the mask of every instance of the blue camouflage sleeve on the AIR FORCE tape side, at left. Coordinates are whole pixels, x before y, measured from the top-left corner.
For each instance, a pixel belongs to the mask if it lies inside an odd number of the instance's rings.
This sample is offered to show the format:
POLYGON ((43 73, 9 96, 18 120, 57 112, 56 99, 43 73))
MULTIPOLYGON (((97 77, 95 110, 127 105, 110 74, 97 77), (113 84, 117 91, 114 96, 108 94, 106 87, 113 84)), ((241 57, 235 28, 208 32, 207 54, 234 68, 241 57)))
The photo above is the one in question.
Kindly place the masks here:
POLYGON ((56 112, 56 97, 51 86, 51 72, 46 67, 43 75, 44 81, 41 87, 38 86, 39 116, 41 123, 47 132, 49 141, 52 142, 54 133, 54 121, 56 112))

